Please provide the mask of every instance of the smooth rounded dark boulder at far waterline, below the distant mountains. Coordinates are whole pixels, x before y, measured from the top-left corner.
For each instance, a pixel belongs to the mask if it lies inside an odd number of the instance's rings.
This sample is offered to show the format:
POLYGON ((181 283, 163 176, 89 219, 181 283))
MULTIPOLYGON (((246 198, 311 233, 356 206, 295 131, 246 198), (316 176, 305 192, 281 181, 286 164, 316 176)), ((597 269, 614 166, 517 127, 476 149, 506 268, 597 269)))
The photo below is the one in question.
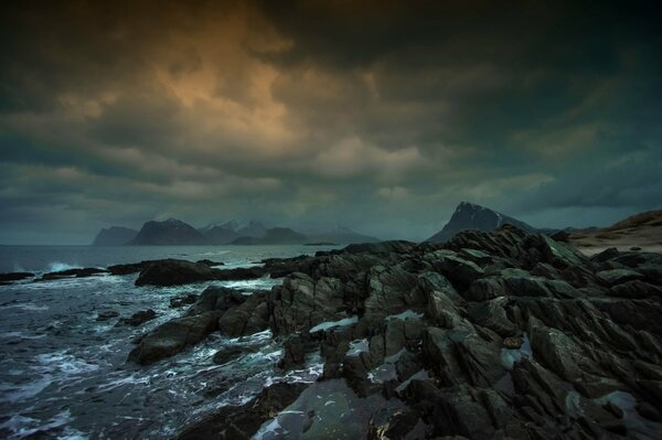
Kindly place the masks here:
POLYGON ((204 264, 167 259, 142 269, 136 286, 177 286, 213 279, 216 279, 214 271, 204 264))

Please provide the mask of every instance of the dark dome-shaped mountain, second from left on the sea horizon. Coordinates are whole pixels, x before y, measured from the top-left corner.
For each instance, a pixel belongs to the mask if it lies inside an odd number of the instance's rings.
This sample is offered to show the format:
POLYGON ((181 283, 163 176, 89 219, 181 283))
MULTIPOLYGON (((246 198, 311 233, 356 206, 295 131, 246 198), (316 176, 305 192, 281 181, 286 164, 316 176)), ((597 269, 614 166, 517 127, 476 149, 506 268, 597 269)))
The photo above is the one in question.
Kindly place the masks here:
POLYGON ((169 218, 163 222, 147 222, 128 244, 134 246, 204 245, 206 239, 193 226, 169 218))

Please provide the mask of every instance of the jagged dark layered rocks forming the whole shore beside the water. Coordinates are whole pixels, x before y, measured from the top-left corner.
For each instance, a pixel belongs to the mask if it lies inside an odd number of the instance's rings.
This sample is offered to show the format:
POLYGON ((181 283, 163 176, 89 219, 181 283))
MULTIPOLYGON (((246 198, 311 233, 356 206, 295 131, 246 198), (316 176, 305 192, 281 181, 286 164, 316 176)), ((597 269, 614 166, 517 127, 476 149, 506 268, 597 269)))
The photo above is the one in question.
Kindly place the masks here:
POLYGON ((588 258, 504 225, 442 245, 386 242, 252 268, 214 266, 158 260, 107 269, 139 271, 137 286, 284 278, 270 291, 210 287, 173 305, 195 301, 136 341, 129 362, 163 359, 212 332, 270 331, 282 343, 280 368, 302 367, 319 353, 323 372, 308 388, 268 386, 245 405, 184 427, 179 438, 250 438, 263 423, 271 427, 264 438, 662 432, 660 254, 609 249, 588 258), (331 390, 328 408, 345 399, 354 425, 312 398, 331 390))

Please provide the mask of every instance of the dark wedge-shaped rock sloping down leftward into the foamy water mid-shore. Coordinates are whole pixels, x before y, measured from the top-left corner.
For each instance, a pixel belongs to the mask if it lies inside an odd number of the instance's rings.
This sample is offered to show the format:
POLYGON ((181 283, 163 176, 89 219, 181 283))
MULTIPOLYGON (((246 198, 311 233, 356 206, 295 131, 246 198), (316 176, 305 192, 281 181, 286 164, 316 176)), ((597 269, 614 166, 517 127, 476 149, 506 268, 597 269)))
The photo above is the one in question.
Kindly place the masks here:
POLYGON ((218 312, 177 318, 156 328, 131 350, 128 361, 147 365, 173 356, 217 329, 218 312))

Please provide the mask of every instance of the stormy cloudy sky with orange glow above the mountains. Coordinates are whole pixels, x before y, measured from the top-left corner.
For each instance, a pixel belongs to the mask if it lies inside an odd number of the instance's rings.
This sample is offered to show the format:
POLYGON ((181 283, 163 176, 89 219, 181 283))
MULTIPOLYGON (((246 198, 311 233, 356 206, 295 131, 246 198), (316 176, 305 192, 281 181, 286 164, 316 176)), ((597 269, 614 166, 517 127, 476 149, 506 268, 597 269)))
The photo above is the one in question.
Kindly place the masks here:
POLYGON ((655 2, 0 6, 0 244, 261 219, 425 239, 662 207, 655 2))

